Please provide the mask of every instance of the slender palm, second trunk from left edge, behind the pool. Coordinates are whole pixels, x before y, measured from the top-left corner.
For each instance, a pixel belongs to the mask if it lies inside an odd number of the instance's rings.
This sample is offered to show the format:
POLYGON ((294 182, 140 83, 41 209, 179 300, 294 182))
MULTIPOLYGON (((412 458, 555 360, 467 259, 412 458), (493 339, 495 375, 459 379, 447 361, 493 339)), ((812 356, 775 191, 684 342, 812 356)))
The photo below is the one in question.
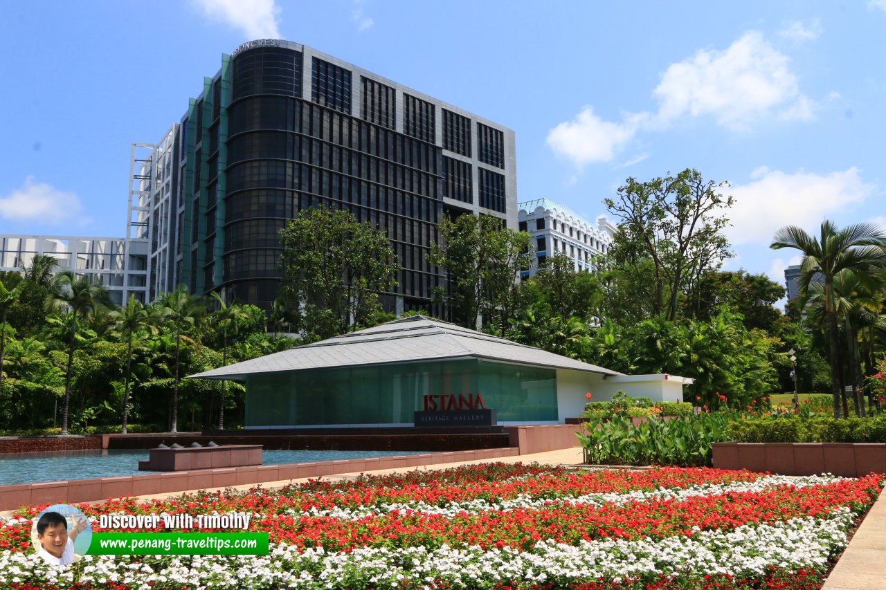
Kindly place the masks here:
POLYGON ((67 370, 65 377, 65 407, 62 408, 61 435, 67 436, 68 408, 71 401, 71 376, 74 369, 74 345, 77 335, 77 318, 85 320, 96 307, 108 301, 105 287, 85 277, 77 278, 71 271, 59 273, 55 277, 50 293, 50 305, 67 310, 70 316, 68 327, 67 370))

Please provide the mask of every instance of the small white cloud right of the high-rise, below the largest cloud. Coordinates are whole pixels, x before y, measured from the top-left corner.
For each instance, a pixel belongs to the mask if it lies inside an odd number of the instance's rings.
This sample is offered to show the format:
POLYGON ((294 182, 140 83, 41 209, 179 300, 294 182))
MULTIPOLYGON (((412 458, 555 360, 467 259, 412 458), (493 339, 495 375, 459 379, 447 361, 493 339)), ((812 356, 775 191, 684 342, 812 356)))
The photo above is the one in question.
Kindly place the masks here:
POLYGON ((548 145, 576 166, 608 162, 631 141, 645 115, 626 115, 621 123, 602 120, 586 106, 575 119, 560 123, 548 133, 548 145))

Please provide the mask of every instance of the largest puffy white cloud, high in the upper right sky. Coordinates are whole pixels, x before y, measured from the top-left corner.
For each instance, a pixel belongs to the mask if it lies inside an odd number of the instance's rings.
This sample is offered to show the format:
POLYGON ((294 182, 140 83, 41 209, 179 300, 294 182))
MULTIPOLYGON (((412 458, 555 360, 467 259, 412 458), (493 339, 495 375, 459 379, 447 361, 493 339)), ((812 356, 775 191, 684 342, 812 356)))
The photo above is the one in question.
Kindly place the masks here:
POLYGON ((776 109, 808 117, 812 101, 800 94, 789 65, 757 31, 727 50, 698 51, 664 72, 654 92, 661 102, 657 120, 666 126, 686 115, 711 115, 719 125, 743 129, 776 109))

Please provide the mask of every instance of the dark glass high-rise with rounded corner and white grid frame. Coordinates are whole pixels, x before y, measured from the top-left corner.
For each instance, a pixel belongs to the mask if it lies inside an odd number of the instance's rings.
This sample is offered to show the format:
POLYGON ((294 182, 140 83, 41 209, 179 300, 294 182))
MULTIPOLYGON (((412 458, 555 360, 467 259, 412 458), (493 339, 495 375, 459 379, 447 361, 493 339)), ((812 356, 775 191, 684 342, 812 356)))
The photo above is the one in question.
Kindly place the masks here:
POLYGON ((151 243, 152 296, 191 292, 268 308, 279 231, 309 206, 382 229, 402 266, 388 311, 434 309, 445 273, 427 262, 444 215, 517 229, 514 132, 299 43, 223 55, 188 112, 133 156, 130 233, 151 243))

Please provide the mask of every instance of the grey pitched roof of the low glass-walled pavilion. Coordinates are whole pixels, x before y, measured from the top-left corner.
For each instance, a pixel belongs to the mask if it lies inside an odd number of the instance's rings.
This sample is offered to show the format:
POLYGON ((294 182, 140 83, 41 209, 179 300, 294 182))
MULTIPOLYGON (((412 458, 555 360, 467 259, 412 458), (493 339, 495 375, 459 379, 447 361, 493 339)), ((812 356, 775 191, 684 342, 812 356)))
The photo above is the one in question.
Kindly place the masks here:
POLYGON ((453 323, 431 320, 424 315, 414 315, 190 377, 243 380, 259 373, 471 358, 622 375, 540 348, 468 330, 453 323))

